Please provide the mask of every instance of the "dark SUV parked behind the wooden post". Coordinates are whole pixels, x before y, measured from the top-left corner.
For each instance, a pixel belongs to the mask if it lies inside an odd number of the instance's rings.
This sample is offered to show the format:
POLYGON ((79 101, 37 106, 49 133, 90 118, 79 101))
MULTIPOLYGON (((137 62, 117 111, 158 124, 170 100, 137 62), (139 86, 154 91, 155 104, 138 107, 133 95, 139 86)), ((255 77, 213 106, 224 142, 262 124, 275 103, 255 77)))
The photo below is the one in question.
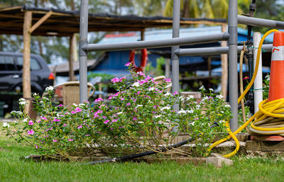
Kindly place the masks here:
MULTIPOLYGON (((16 99, 23 97, 23 54, 0 52, 0 101, 5 103, 5 110, 16 109, 16 99)), ((53 73, 45 60, 31 54, 31 91, 43 93, 45 87, 53 85, 53 73)))

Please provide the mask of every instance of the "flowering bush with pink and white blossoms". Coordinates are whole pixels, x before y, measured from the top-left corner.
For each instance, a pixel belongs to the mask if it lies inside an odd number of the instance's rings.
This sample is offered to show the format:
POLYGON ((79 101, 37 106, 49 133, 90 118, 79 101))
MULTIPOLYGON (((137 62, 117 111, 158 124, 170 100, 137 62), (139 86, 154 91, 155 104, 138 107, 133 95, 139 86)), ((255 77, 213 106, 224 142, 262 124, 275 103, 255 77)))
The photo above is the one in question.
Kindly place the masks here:
MULTIPOLYGON (((199 135, 195 151, 188 149, 173 152, 202 156, 207 143, 212 142, 214 133, 223 133, 225 120, 231 113, 229 105, 222 100, 222 95, 215 95, 212 89, 200 88, 204 98, 200 103, 189 96, 182 98, 178 93, 168 93, 171 80, 164 79, 158 84, 142 72, 133 72, 130 63, 126 64, 131 79, 111 79, 116 93, 104 103, 102 98, 73 105, 67 110, 62 104, 54 103, 53 87, 46 88, 43 98, 34 94, 35 110, 38 120, 31 120, 24 113, 26 101, 20 99, 20 111, 13 111, 17 118, 11 126, 20 130, 10 130, 4 124, 8 135, 16 137, 18 142, 26 141, 42 154, 63 158, 87 156, 96 152, 109 155, 133 154, 145 150, 159 152, 160 147, 175 143, 180 132, 187 132, 192 137, 199 135), (180 103, 180 110, 171 106, 180 103), (217 125, 211 127, 214 123, 217 125)), ((168 152, 169 153, 169 152, 168 152)))

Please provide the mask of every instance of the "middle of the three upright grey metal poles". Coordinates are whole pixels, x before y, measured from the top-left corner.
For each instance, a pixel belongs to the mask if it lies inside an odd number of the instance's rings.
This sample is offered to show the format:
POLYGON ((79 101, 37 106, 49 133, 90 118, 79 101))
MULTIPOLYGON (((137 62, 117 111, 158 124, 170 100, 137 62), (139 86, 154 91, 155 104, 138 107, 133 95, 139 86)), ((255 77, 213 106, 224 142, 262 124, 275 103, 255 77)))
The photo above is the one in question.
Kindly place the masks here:
MULTIPOLYGON (((180 0, 173 1, 173 38, 180 37, 180 0)), ((173 93, 178 92, 179 89, 179 57, 175 55, 175 50, 177 50, 179 46, 172 47, 172 77, 173 77, 173 93)), ((178 104, 173 106, 173 109, 179 110, 178 104)))

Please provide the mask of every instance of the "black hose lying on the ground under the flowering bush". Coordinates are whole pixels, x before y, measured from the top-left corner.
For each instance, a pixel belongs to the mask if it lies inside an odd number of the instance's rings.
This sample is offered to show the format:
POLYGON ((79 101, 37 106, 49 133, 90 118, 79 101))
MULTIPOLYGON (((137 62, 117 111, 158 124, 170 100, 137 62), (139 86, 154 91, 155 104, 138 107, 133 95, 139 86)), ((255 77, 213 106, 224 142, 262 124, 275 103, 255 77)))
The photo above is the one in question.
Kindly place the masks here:
MULTIPOLYGON (((218 126, 218 123, 214 123, 212 127, 216 127, 218 126)), ((189 142, 192 142, 193 140, 195 140, 197 137, 199 137, 201 134, 199 133, 198 135, 196 135, 196 137, 190 137, 189 139, 185 140, 185 141, 182 141, 178 144, 173 144, 173 145, 170 145, 169 147, 162 147, 160 149, 157 149, 157 152, 155 151, 148 151, 148 152, 141 152, 141 153, 138 153, 138 154, 131 154, 131 155, 126 155, 126 156, 122 156, 122 157, 114 157, 114 158, 111 158, 111 159, 104 159, 104 160, 101 160, 101 161, 90 161, 88 163, 85 163, 85 164, 102 164, 102 163, 106 163, 106 162, 116 162, 116 161, 130 161, 132 159, 136 159, 138 157, 144 157, 144 156, 148 156, 148 155, 152 155, 152 154, 156 154, 158 152, 165 152, 167 150, 170 150, 170 149, 174 149, 174 148, 177 148, 177 147, 180 147, 184 144, 187 144, 189 142)))

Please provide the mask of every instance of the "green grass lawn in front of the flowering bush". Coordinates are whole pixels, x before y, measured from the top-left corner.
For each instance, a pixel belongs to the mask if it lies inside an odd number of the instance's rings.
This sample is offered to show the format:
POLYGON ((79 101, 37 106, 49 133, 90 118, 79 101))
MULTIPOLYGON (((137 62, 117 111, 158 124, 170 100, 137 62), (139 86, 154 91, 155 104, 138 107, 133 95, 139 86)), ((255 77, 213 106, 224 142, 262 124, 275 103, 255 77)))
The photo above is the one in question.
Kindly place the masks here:
POLYGON ((21 159, 35 154, 0 136, 0 181, 284 181, 282 159, 235 157, 233 166, 202 164, 121 163, 82 165, 75 162, 21 159))

